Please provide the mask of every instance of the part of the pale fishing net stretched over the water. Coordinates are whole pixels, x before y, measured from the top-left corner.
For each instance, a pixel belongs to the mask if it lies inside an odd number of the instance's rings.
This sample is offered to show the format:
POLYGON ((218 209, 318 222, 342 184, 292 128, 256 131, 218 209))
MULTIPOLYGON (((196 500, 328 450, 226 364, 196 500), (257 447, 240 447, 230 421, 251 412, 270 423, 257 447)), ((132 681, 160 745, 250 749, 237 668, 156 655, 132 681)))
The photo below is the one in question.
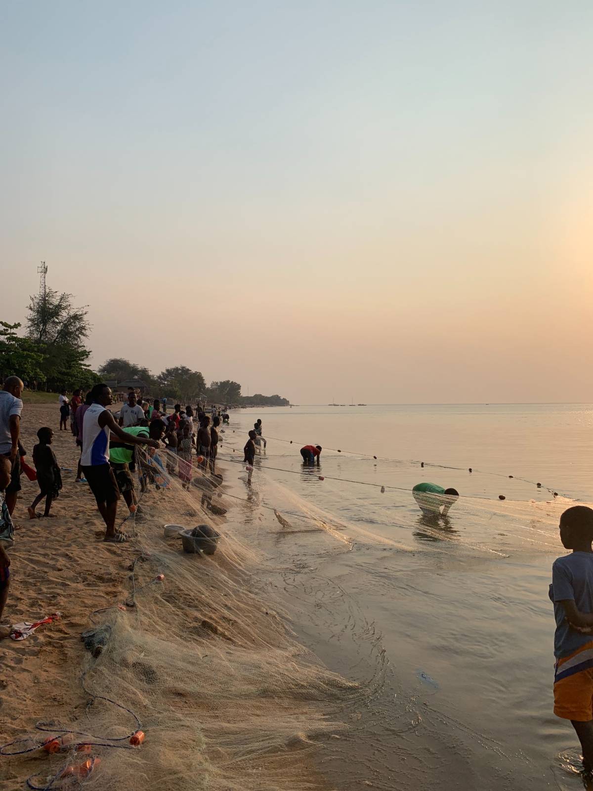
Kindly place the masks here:
MULTIPOLYGON (((248 471, 243 461, 233 458, 230 453, 225 456, 225 462, 246 470, 246 481, 252 482, 257 476, 265 476, 268 487, 272 485, 271 482, 274 482, 274 486, 281 487, 277 488, 278 493, 282 492, 278 501, 264 503, 263 507, 279 513, 285 513, 289 509, 293 514, 289 519, 309 520, 320 529, 327 530, 328 526, 332 530, 337 528, 339 535, 336 537, 342 543, 368 540, 402 548, 408 543, 396 539, 393 528, 401 528, 402 531, 413 528, 421 532, 427 540, 462 540, 466 547, 479 548, 500 557, 506 557, 517 550, 558 551, 559 554, 563 551, 557 538, 557 525, 561 513, 575 501, 555 493, 553 498, 544 499, 542 495, 546 490, 541 489, 534 491, 541 499, 523 499, 512 493, 515 487, 524 488, 523 479, 509 480, 505 488, 508 495, 504 497, 462 494, 446 515, 439 513, 444 508, 443 503, 439 503, 439 498, 436 498, 436 509, 432 513, 421 513, 414 502, 411 486, 391 486, 386 483, 342 478, 328 475, 325 470, 323 475, 317 475, 316 467, 296 470, 274 467, 266 462, 266 451, 261 448, 259 450, 252 472, 248 471), (271 477, 272 473, 274 479, 271 477), (280 475, 276 475, 277 473, 280 475), (295 479, 295 476, 302 480, 304 475, 308 475, 312 498, 303 498, 296 494, 295 487, 289 482, 287 485, 278 481, 278 478, 295 479), (370 486, 380 495, 358 497, 352 493, 357 485, 370 486), (324 502, 331 501, 331 497, 327 498, 328 490, 334 495, 335 509, 328 511, 327 508, 319 507, 319 498, 314 494, 315 486, 323 486, 324 502), (360 517, 357 516, 357 511, 362 513, 360 517), (373 518, 368 516, 369 511, 374 514, 373 518), (348 517, 344 516, 346 512, 348 517), (380 524, 380 531, 368 526, 371 524, 374 527, 374 522, 380 524), (349 536, 349 541, 345 536, 349 536)), ((384 477, 387 478, 387 475, 384 477)), ((482 485, 482 477, 486 486, 490 476, 478 471, 472 474, 472 483, 482 485)))

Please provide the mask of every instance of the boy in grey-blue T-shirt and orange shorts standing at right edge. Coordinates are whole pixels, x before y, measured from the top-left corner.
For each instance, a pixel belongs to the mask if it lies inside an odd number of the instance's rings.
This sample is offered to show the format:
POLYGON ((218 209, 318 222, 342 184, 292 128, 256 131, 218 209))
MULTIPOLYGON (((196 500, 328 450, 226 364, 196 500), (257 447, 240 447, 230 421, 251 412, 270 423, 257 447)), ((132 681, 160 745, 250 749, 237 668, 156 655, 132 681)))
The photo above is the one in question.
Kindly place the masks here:
MULTIPOLYGON (((554 605, 554 714, 570 720, 593 781, 593 509, 574 505, 560 517, 560 540, 572 554, 552 566, 554 605)), ((589 786, 587 785, 587 788, 589 786)))

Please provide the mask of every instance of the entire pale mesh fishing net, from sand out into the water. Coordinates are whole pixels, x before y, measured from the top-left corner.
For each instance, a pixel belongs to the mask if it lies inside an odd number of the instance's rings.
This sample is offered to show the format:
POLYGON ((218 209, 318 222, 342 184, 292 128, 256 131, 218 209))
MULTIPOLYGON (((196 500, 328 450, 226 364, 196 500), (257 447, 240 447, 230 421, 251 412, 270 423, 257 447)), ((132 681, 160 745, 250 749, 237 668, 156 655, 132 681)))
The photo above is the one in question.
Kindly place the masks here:
MULTIPOLYGON (((393 766, 406 782, 432 777, 414 751, 419 729, 434 736, 447 722, 489 744, 395 683, 380 630, 341 564, 348 558, 391 596, 384 568, 414 585, 418 557, 463 566, 466 557, 557 552, 558 519, 572 500, 539 482, 457 469, 447 483, 463 494, 449 513, 438 499, 423 513, 411 494, 432 477, 421 462, 356 454, 349 462, 340 451, 305 468, 267 437, 251 469, 243 442, 221 431, 215 473, 195 456, 189 469, 166 451, 138 458, 121 594, 89 614, 71 710, 52 721, 41 706, 29 733, 8 730, 6 789, 29 778, 47 791, 81 781, 304 791, 334 787, 346 765, 353 782, 387 789, 393 766), (138 732, 145 740, 134 746, 138 732), (47 738, 60 750, 43 751, 47 738)), ((493 776, 525 761, 494 741, 489 749, 493 776)))

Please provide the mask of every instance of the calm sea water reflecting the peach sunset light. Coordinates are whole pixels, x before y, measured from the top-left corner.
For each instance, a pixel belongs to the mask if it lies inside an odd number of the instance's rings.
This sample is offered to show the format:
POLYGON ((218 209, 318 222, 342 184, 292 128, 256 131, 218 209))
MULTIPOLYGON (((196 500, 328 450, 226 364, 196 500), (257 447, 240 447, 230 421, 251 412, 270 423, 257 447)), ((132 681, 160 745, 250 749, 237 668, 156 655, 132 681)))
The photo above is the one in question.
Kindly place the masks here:
POLYGON ((237 460, 258 417, 268 443, 247 518, 263 590, 365 693, 323 754, 336 787, 582 787, 565 755, 572 728, 552 712, 547 594, 558 517, 593 500, 593 407, 248 410, 232 413, 223 458, 237 460), (303 444, 323 445, 319 467, 302 467, 303 444), (410 496, 421 481, 459 490, 448 520, 422 517, 410 496))

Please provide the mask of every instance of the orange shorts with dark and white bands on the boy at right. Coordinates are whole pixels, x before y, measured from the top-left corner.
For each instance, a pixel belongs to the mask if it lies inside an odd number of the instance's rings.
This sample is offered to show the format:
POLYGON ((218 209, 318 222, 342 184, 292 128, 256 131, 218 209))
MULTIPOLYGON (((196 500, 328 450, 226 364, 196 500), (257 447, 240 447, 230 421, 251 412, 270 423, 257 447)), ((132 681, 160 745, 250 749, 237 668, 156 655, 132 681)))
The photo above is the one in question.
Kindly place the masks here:
POLYGON ((593 720, 593 641, 557 660, 554 714, 565 720, 593 720))

